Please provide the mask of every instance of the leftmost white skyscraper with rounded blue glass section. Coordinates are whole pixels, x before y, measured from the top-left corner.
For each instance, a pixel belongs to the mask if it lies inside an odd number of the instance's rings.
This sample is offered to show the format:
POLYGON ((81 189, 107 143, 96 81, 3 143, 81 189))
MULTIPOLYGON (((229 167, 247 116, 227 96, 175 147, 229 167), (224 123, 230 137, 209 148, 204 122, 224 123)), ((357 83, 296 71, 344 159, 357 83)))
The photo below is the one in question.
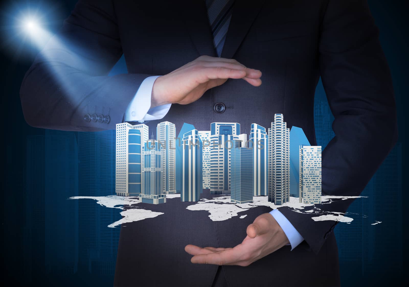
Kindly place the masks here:
POLYGON ((115 193, 139 196, 141 190, 141 147, 148 140, 145 124, 116 124, 115 193), (130 130, 133 130, 130 132, 130 130), (139 135, 134 130, 139 130, 139 135))

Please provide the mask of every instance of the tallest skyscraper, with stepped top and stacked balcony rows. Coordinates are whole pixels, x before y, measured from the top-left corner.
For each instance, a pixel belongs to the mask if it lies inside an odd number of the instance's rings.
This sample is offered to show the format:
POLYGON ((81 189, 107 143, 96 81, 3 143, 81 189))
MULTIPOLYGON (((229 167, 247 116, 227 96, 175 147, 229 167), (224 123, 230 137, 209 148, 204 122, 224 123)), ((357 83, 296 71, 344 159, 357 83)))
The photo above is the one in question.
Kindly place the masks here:
POLYGON ((275 114, 268 135, 268 200, 281 205, 290 200, 290 129, 283 114, 275 114))

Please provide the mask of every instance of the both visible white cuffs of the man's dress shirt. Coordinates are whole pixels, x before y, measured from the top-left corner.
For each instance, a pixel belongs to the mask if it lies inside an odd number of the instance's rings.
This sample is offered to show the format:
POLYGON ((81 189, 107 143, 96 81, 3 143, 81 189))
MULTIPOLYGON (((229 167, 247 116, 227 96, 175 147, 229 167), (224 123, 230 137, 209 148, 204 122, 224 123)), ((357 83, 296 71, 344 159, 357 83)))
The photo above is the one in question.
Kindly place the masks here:
MULTIPOLYGON (((168 113, 172 104, 151 108, 153 83, 158 77, 159 76, 150 76, 142 82, 126 109, 125 121, 139 121, 139 123, 143 123, 144 121, 162 119, 168 113)), ((273 209, 270 214, 283 229, 288 241, 290 241, 291 250, 304 240, 297 229, 294 228, 290 221, 288 221, 278 209, 273 209)))

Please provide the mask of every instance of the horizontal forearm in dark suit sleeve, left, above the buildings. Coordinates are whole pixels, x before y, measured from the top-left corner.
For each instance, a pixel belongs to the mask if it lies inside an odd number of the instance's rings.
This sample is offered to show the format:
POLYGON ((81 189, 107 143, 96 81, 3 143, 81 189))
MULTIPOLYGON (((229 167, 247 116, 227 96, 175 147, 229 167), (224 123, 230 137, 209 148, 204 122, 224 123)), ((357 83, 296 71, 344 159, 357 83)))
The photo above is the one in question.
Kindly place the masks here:
POLYGON ((115 129, 145 74, 90 76, 55 63, 35 63, 20 89, 24 117, 31 126, 58 130, 115 129), (109 116, 109 123, 87 115, 109 116))

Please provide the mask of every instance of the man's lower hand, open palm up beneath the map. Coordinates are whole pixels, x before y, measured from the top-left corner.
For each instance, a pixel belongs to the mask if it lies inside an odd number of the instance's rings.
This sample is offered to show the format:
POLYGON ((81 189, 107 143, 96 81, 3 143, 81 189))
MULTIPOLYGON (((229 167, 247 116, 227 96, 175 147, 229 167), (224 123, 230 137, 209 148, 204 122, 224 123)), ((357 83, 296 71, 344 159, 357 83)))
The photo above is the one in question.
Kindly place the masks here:
POLYGON ((247 226, 246 238, 236 247, 201 248, 189 244, 184 250, 193 255, 192 263, 248 266, 289 243, 274 217, 264 213, 247 226))

